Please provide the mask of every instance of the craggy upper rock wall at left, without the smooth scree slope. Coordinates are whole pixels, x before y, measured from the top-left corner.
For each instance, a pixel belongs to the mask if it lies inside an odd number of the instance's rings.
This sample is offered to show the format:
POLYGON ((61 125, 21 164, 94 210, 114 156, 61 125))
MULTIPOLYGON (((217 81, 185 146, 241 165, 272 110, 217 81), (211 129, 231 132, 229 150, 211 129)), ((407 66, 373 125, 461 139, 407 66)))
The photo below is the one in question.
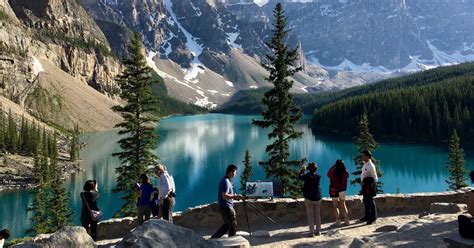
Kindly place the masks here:
POLYGON ((8 18, 16 20, 0 29, 4 57, 0 69, 9 75, 4 95, 22 103, 34 88, 38 59, 52 62, 103 93, 117 93, 114 78, 121 65, 100 28, 76 1, 11 0, 3 6, 8 18))

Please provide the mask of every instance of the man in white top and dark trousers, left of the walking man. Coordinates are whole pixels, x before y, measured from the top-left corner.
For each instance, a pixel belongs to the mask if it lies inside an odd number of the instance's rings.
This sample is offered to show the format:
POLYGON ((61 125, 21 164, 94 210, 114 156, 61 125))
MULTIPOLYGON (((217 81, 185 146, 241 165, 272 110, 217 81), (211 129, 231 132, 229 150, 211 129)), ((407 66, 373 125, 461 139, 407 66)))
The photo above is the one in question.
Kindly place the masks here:
POLYGON ((166 170, 166 166, 162 164, 158 164, 155 167, 155 174, 160 181, 158 191, 163 219, 173 223, 173 207, 176 203, 174 179, 166 170))

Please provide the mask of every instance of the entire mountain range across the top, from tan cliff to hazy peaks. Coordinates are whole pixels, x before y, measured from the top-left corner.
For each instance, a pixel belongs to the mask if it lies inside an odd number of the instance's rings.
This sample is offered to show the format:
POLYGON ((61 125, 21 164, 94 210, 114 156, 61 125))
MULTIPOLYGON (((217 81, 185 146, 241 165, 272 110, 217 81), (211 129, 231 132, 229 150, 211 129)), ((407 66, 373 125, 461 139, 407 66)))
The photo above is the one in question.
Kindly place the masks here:
POLYGON ((166 94, 218 107, 240 90, 269 86, 261 63, 276 2, 303 68, 294 93, 474 60, 474 4, 466 0, 0 0, 2 95, 66 126, 118 120, 109 107, 118 102, 119 57, 139 32, 166 94), (99 114, 85 121, 83 109, 99 114))

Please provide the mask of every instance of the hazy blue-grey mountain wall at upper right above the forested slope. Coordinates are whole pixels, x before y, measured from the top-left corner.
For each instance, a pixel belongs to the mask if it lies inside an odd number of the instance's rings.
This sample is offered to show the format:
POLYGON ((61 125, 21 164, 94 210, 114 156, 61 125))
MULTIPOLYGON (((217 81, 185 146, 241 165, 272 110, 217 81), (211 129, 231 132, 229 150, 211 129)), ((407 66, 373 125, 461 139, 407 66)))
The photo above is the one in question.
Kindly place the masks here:
MULTIPOLYGON (((474 60, 474 4, 464 0, 270 0, 227 4, 237 18, 268 23, 283 2, 293 44, 327 69, 413 71, 474 60)), ((265 34, 265 32, 263 32, 265 34)))

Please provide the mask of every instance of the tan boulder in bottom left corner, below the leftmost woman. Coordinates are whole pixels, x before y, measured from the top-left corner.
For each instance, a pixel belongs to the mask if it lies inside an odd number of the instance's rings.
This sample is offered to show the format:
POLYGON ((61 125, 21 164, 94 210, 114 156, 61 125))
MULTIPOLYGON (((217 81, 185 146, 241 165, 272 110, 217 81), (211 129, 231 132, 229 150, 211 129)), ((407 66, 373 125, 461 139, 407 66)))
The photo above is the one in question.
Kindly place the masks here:
POLYGON ((66 226, 48 235, 39 235, 32 241, 14 245, 13 247, 33 248, 89 248, 96 247, 94 240, 81 226, 66 226))

